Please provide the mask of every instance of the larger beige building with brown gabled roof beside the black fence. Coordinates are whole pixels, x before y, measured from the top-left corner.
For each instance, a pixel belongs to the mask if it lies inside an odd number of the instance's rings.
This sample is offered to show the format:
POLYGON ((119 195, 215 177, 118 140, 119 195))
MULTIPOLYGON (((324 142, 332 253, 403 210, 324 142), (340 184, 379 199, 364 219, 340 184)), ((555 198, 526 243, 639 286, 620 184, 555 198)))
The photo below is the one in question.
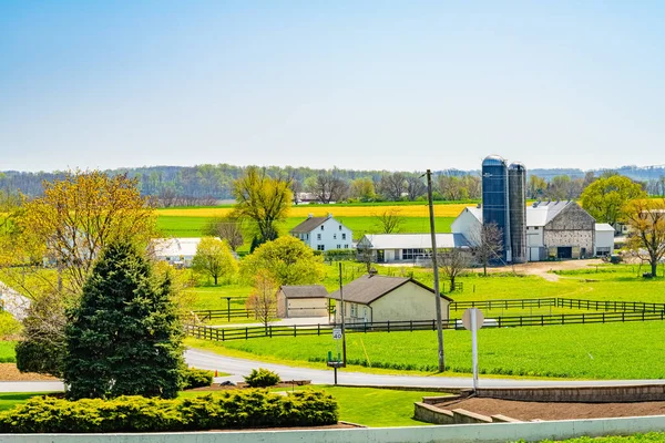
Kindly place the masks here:
MULTIPOLYGON (((379 322, 432 320, 434 313, 433 289, 407 277, 367 275, 355 279, 342 288, 345 322, 379 322)), ((328 297, 336 300, 335 322, 341 321, 339 290, 328 297)), ((448 319, 448 307, 452 301, 441 297, 441 318, 448 319)))

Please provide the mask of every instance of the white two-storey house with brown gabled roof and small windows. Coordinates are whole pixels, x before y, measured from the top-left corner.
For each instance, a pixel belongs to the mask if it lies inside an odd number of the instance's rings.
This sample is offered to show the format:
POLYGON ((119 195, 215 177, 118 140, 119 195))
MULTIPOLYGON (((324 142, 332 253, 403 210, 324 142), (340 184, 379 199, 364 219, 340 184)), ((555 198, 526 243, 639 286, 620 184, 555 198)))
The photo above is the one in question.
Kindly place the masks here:
POLYGON ((354 233, 340 222, 327 217, 309 217, 290 230, 290 235, 305 241, 314 250, 350 249, 354 233))

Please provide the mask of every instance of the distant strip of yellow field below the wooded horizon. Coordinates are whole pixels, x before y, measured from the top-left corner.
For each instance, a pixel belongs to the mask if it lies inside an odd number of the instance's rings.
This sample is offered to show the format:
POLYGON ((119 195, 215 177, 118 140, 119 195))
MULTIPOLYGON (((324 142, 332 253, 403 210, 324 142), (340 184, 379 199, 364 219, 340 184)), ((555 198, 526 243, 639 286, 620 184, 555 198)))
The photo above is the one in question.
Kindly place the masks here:
MULTIPOLYGON (((460 203, 450 205, 436 205, 434 215, 437 217, 457 217, 471 204, 460 203)), ((383 214, 387 210, 395 210, 402 217, 428 217, 428 208, 424 203, 415 203, 412 205, 367 205, 367 206, 323 206, 323 205, 300 205, 293 206, 288 213, 289 217, 307 217, 313 214, 315 217, 323 217, 328 213, 337 217, 371 217, 383 214)), ((173 217, 223 217, 228 215, 232 208, 168 208, 157 209, 158 215, 173 217)))

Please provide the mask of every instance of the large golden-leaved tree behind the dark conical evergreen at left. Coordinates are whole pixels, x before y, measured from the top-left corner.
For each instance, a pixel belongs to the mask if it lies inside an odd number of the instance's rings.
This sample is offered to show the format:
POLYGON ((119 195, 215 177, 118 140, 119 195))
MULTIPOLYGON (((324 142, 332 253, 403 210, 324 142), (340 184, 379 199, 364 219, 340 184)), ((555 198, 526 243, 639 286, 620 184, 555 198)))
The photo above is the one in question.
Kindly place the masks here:
POLYGON ((79 301, 93 261, 119 239, 147 244, 155 223, 152 200, 142 197, 136 181, 126 175, 65 173, 43 183, 43 196, 22 195, 12 229, 0 236, 7 284, 35 305, 17 350, 19 368, 60 372, 59 359, 47 360, 58 357, 53 350, 64 346, 64 310, 79 301), (44 262, 54 271, 44 270, 44 262))

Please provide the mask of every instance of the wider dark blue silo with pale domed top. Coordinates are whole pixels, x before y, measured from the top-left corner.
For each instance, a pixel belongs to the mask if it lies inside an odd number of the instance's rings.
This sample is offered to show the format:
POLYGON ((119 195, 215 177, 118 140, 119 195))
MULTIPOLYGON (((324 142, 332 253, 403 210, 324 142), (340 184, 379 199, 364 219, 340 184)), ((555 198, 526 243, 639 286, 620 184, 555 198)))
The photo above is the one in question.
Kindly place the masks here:
POLYGON ((482 161, 482 223, 494 223, 503 233, 503 262, 512 260, 508 200, 508 166, 498 155, 482 161))

